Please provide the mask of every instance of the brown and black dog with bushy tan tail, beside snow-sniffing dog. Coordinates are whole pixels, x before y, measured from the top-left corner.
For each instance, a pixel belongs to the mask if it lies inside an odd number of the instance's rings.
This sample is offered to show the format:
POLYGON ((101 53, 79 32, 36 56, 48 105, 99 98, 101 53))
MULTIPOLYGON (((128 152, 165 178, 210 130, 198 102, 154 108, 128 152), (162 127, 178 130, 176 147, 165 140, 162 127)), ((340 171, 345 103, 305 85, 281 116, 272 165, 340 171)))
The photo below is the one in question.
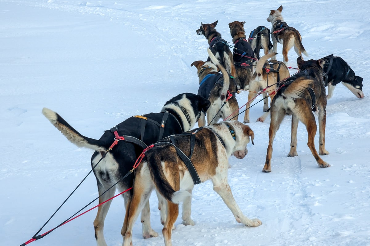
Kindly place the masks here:
POLYGON ((330 167, 319 155, 328 155, 325 149, 326 125, 326 95, 323 84, 324 60, 308 60, 305 62, 300 57, 297 59, 300 73, 290 77, 284 86, 277 91, 271 103, 271 122, 269 129, 269 146, 267 148, 266 162, 263 172, 271 171, 272 143, 276 131, 285 115, 292 115, 292 139, 288 156, 297 156, 297 128, 298 121, 306 125, 308 133, 307 145, 315 157, 319 167, 330 167), (316 121, 312 108, 319 110, 319 155, 315 149, 314 138, 316 135, 316 121))

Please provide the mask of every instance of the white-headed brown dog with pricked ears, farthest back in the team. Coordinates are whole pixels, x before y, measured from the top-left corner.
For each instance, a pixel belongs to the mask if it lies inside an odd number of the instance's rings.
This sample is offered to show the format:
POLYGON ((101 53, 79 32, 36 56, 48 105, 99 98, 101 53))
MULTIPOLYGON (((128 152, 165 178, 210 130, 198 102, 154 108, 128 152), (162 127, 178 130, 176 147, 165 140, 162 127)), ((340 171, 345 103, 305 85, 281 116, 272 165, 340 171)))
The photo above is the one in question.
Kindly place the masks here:
MULTIPOLYGON (((277 10, 271 10, 270 15, 267 18, 268 22, 272 24, 272 45, 273 52, 277 51, 277 42, 283 45, 283 58, 284 63, 288 62, 288 51, 294 46, 294 50, 298 56, 308 56, 305 48, 302 45, 302 37, 299 32, 293 28, 289 27, 286 22, 284 22, 281 11, 283 6, 280 6, 277 10)), ((276 59, 274 57, 273 59, 276 59)))

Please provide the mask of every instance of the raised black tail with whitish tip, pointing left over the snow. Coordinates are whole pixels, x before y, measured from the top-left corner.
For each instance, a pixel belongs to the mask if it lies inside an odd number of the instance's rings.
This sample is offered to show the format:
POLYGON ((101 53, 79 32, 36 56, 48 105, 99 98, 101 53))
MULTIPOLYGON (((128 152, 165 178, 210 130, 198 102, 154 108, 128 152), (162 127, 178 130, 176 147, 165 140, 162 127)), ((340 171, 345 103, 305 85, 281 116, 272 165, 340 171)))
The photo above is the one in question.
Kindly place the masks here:
POLYGON ((78 147, 85 147, 97 151, 105 151, 104 143, 97 139, 92 139, 81 135, 70 124, 67 123, 56 112, 43 108, 43 115, 54 125, 61 133, 71 142, 78 147))

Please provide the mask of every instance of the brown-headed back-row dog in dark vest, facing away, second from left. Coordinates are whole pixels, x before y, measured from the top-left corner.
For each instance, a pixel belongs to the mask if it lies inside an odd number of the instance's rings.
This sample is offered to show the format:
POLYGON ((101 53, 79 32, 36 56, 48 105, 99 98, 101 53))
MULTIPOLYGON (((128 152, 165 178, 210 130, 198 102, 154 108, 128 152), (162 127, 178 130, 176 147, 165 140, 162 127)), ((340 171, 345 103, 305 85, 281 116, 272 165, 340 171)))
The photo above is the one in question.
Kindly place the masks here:
POLYGON ((245 36, 245 21, 229 23, 230 34, 234 44, 233 60, 236 72, 236 84, 242 90, 248 90, 249 80, 253 73, 255 53, 245 36))

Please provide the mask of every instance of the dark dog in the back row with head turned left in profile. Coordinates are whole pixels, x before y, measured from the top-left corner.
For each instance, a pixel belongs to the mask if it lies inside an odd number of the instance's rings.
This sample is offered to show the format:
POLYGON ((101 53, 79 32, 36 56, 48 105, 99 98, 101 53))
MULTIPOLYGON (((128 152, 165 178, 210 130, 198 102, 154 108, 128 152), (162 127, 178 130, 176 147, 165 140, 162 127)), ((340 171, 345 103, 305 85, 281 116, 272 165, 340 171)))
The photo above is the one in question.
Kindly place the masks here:
POLYGON ((206 37, 209 49, 211 49, 213 55, 216 56, 221 65, 228 70, 231 76, 236 77, 234 60, 229 45, 221 38, 221 34, 215 29, 217 22, 218 21, 215 21, 212 24, 203 24, 201 22, 201 26, 196 30, 196 34, 206 37))

